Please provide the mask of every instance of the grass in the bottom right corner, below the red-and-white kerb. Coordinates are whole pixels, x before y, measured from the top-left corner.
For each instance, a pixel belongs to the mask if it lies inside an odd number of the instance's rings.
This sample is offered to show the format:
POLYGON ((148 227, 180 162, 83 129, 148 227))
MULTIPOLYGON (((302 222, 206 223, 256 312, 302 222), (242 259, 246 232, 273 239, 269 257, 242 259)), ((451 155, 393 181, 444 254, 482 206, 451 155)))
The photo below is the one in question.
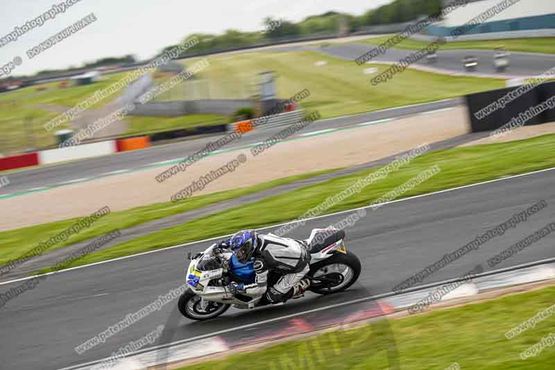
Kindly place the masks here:
POLYGON ((460 308, 390 319, 388 323, 378 321, 180 370, 385 370, 389 365, 386 351, 393 343, 403 370, 443 370, 454 362, 461 369, 473 370, 551 370, 555 364, 554 347, 544 348, 527 360, 522 360, 520 353, 555 332, 555 317, 511 340, 504 334, 553 305, 554 294, 555 287, 547 287, 460 308))

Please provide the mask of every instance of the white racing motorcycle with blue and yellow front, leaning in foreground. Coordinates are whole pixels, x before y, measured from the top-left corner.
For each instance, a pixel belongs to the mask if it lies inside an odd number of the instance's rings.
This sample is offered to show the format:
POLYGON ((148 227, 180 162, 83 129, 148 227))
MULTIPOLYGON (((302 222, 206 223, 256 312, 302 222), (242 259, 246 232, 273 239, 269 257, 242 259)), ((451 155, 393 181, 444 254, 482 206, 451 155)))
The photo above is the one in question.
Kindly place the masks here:
MULTIPOLYGON (((360 260, 347 250, 344 239, 343 230, 315 228, 309 238, 302 241, 311 254, 310 270, 305 276, 310 280, 311 292, 342 292, 359 278, 360 260), (315 242, 318 239, 323 241, 315 242)), ((205 251, 189 258, 191 262, 185 270, 189 289, 178 301, 181 314, 188 319, 203 321, 220 316, 230 307, 252 309, 260 306, 259 298, 232 294, 227 289, 230 283, 250 284, 255 281, 254 261, 241 264, 233 253, 220 252, 216 246, 212 244, 205 251)), ((268 286, 275 284, 279 278, 278 274, 269 274, 268 286)))

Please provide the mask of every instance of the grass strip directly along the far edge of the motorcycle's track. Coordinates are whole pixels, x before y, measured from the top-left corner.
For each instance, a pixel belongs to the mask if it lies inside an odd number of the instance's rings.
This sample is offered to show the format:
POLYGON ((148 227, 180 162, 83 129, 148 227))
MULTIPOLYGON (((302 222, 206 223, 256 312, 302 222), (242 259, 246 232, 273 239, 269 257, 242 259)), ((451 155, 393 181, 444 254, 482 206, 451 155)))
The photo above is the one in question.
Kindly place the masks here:
MULTIPOLYGON (((421 155, 409 165, 364 188, 359 194, 334 205, 326 213, 368 205, 433 165, 439 165, 441 173, 404 193, 404 197, 555 167, 555 157, 552 155, 554 151, 555 134, 515 142, 435 151, 421 155)), ((228 235, 241 228, 260 228, 291 221, 325 201, 328 196, 334 196, 345 190, 372 171, 375 169, 334 178, 325 183, 303 187, 241 208, 160 230, 86 255, 77 264, 98 262, 184 242, 228 235)))

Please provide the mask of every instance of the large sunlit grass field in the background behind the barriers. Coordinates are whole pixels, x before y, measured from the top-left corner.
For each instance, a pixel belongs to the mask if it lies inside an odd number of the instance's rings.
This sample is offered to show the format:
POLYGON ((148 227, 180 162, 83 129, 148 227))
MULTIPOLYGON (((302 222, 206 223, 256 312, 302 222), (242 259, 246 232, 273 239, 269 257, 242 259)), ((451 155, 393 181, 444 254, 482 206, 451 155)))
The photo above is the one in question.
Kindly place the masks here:
MULTIPOLYGON (((210 67, 199 73, 219 86, 218 97, 231 99, 245 89, 245 81, 257 73, 273 71, 277 95, 289 97, 308 89, 311 95, 300 102, 303 108, 318 110, 323 118, 369 112, 395 106, 447 99, 473 92, 495 90, 505 86, 499 78, 445 76, 407 69, 391 81, 373 86, 364 68, 355 62, 341 60, 312 51, 287 53, 239 53, 230 56, 208 56, 210 67), (324 60, 327 65, 316 67, 324 60), (418 94, 413 94, 418 91, 418 94)), ((197 59, 186 60, 192 65, 197 59)), ((388 69, 376 67, 379 73, 388 69)))

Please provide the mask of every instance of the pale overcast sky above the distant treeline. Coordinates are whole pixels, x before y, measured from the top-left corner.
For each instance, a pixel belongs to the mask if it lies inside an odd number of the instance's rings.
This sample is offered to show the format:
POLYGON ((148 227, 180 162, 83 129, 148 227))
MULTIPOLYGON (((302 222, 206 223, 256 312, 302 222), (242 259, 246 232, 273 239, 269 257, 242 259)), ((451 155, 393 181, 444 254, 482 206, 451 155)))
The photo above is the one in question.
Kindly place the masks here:
MULTIPOLYGON (((0 37, 65 0, 0 0, 0 37)), ((55 19, 0 47, 0 67, 15 57, 22 65, 12 75, 63 69, 105 56, 155 56, 190 33, 262 30, 264 17, 300 21, 328 10, 360 15, 392 0, 81 0, 55 19), (26 51, 94 12, 96 22, 29 59, 26 51)))

